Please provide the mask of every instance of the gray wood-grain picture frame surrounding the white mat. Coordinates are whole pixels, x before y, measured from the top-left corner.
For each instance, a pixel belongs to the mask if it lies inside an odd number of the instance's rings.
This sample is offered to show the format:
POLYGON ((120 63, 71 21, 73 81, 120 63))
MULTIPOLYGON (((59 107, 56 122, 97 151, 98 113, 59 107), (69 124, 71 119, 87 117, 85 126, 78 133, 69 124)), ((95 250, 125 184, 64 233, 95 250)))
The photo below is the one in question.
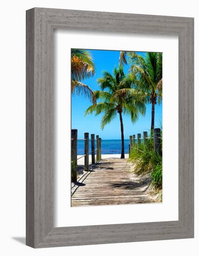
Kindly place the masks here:
POLYGON ((28 10, 27 245, 42 248, 192 238, 193 199, 193 18, 28 10), (53 227, 53 29, 179 36, 178 221, 53 227))

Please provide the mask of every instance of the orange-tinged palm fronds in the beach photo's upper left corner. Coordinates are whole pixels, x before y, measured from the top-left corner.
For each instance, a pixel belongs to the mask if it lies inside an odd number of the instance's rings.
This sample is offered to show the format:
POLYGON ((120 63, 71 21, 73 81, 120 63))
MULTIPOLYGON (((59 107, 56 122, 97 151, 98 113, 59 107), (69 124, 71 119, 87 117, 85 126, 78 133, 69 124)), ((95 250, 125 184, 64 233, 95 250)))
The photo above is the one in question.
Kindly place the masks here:
POLYGON ((95 73, 92 56, 88 50, 71 50, 71 91, 72 94, 84 95, 95 102, 93 91, 81 81, 95 73))

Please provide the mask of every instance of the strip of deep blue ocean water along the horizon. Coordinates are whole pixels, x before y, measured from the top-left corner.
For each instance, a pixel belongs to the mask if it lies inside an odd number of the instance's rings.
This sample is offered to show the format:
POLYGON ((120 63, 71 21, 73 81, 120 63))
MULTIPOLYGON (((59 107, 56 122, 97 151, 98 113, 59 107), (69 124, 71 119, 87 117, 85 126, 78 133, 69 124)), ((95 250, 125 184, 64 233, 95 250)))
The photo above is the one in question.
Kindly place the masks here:
MULTIPOLYGON (((129 140, 124 140, 125 154, 128 154, 129 140)), ((95 141, 95 154, 96 154, 96 141, 95 141)), ((77 141, 77 154, 84 155, 84 141, 77 141)), ((101 141, 101 154, 121 154, 121 140, 102 140, 101 141)), ((89 140, 89 155, 91 155, 91 140, 89 140)))

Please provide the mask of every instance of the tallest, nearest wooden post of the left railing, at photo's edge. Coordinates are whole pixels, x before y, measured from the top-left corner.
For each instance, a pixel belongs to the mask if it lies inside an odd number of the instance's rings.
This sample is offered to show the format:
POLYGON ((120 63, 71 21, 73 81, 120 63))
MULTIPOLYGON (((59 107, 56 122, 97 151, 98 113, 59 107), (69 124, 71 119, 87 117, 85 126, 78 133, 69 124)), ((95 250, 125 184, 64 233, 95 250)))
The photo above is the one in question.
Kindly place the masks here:
POLYGON ((71 181, 77 182, 77 129, 71 130, 71 181))

